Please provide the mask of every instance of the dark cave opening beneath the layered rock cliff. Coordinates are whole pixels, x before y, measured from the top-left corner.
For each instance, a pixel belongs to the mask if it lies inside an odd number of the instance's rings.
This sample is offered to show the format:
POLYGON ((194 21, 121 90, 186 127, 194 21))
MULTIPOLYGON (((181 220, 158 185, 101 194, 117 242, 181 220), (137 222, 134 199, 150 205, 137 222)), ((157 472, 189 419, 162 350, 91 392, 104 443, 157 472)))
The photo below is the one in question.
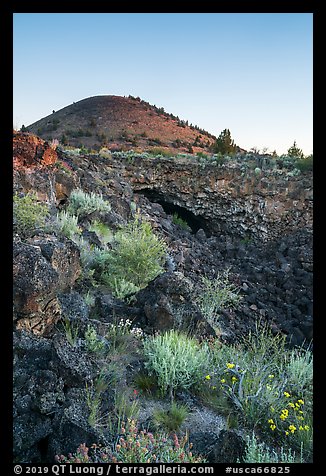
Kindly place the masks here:
POLYGON ((151 189, 143 189, 137 190, 135 191, 135 193, 143 195, 150 202, 160 204, 165 213, 167 213, 168 215, 174 215, 176 213, 178 217, 182 218, 182 220, 185 220, 187 222, 187 224, 191 228, 192 233, 197 233, 198 230, 203 229, 207 236, 211 236, 212 233, 205 218, 195 215, 190 210, 181 207, 180 205, 167 202, 164 198, 164 195, 160 192, 151 189))

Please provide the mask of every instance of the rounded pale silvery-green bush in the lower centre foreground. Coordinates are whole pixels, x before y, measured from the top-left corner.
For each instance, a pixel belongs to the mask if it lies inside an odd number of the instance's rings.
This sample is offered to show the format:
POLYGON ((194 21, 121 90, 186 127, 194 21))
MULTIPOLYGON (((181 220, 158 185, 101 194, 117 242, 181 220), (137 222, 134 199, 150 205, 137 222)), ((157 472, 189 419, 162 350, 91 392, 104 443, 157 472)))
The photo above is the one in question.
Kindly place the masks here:
POLYGON ((187 389, 200 381, 208 364, 208 348, 192 337, 175 330, 144 341, 146 368, 157 376, 165 395, 177 389, 187 389))

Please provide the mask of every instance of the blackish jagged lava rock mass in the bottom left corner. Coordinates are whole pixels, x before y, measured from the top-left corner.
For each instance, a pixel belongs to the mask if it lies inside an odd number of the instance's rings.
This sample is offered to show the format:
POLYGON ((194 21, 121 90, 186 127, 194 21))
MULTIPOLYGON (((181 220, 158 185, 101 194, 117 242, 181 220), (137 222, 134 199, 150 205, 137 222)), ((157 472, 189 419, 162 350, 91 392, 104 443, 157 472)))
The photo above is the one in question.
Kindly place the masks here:
POLYGON ((85 384, 96 371, 86 354, 60 335, 51 340, 19 331, 13 342, 14 458, 49 463, 71 443, 100 441, 87 422, 85 384))

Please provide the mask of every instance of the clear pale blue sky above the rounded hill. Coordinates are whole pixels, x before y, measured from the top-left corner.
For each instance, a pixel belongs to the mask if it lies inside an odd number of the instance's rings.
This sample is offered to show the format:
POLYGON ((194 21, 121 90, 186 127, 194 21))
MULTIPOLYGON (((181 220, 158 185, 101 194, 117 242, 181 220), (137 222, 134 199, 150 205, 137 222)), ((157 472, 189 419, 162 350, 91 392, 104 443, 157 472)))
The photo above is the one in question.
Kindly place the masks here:
POLYGON ((140 96, 245 148, 312 153, 312 13, 16 13, 14 126, 140 96))

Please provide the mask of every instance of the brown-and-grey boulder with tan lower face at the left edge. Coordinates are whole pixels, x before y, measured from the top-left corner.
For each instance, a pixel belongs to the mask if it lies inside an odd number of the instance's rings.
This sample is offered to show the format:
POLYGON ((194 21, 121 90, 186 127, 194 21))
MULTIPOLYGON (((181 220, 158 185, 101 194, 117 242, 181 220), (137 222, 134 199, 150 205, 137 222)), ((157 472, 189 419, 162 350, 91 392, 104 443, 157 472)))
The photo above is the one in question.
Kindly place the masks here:
POLYGON ((79 250, 70 240, 36 236, 14 241, 14 319, 17 328, 48 332, 62 315, 58 294, 81 273, 79 250))

